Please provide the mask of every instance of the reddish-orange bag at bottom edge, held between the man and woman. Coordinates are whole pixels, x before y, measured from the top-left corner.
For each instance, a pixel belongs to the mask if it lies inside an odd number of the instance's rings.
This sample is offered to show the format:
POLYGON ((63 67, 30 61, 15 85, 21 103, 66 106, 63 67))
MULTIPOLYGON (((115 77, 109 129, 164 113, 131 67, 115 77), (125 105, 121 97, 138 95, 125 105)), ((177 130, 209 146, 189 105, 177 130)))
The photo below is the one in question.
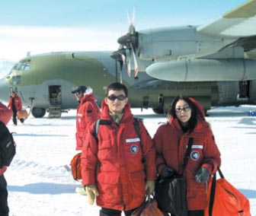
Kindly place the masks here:
POLYGON ((142 205, 139 206, 139 208, 136 208, 135 211, 133 211, 133 214, 131 216, 165 216, 168 214, 164 214, 157 205, 157 202, 155 199, 150 198, 148 196, 145 201, 142 203, 142 205))

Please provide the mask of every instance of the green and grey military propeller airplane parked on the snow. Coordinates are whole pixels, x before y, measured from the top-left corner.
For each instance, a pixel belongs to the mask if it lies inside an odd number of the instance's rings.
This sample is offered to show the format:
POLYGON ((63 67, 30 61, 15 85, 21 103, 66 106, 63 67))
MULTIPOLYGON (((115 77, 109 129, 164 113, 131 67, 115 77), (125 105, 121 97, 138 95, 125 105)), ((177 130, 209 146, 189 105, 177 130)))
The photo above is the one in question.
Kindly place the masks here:
POLYGON ((104 88, 121 81, 133 107, 150 107, 155 113, 164 113, 180 94, 199 100, 205 111, 211 106, 256 104, 256 30, 250 27, 255 2, 248 1, 204 27, 136 31, 130 24, 115 52, 27 56, 0 80, 0 99, 8 100, 10 92, 17 91, 33 116, 43 117, 46 110, 50 116, 60 116, 78 105, 73 87, 90 85, 100 104, 104 88))

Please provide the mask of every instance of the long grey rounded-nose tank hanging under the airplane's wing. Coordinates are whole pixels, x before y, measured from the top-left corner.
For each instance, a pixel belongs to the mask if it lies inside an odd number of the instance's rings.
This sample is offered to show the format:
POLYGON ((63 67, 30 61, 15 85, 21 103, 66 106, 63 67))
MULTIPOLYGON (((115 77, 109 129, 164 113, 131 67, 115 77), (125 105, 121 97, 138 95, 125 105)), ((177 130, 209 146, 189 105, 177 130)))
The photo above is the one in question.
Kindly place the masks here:
POLYGON ((146 68, 153 78, 165 81, 246 81, 256 79, 252 59, 186 59, 156 62, 146 68))

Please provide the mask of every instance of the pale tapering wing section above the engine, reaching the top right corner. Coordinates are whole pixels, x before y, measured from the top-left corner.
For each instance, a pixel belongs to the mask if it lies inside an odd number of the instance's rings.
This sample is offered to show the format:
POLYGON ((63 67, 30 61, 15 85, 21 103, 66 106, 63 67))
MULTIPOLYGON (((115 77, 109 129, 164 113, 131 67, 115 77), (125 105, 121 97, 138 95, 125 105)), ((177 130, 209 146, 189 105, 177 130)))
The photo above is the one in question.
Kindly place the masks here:
POLYGON ((230 37, 251 37, 256 35, 256 0, 234 8, 211 24, 197 27, 197 32, 230 37))

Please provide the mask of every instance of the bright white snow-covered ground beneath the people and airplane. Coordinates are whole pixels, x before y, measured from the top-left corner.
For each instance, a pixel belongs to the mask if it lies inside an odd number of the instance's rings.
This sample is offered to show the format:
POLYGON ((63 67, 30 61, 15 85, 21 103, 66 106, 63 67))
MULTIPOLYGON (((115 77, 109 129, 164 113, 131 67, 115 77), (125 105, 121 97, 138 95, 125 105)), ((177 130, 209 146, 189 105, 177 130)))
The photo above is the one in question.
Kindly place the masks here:
MULTIPOLYGON (((210 110, 216 143, 222 153, 222 172, 251 203, 256 216, 256 116, 248 110, 256 106, 228 106, 210 110)), ((165 116, 152 110, 133 110, 144 119, 150 135, 165 116)), ((10 216, 95 216, 99 208, 88 205, 85 195, 75 193, 80 183, 65 169, 75 154, 75 110, 61 119, 35 119, 8 128, 17 142, 17 155, 5 173, 8 181, 10 216)))

